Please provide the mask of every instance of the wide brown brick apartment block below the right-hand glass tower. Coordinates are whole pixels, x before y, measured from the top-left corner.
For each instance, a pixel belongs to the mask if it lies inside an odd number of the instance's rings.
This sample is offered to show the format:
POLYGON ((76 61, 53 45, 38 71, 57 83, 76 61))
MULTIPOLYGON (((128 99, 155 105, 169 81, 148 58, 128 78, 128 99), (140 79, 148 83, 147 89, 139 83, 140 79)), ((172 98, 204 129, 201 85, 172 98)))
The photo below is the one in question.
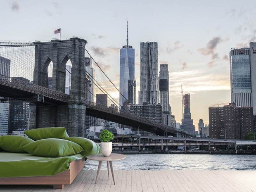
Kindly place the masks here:
POLYGON ((236 107, 235 103, 223 107, 209 107, 209 135, 217 139, 244 139, 253 132, 251 107, 236 107))

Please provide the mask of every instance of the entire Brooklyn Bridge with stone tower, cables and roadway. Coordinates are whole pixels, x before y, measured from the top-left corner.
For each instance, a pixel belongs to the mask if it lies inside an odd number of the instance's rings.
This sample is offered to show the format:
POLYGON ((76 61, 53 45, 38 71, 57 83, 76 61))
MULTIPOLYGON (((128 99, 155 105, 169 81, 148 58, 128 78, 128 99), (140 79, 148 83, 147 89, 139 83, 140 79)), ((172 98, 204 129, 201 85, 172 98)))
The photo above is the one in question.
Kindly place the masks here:
MULTIPOLYGON (((29 102, 30 129, 63 126, 67 128, 69 135, 84 137, 85 116, 88 115, 140 128, 156 135, 185 135, 173 127, 130 114, 121 108, 111 94, 119 92, 118 88, 86 50, 86 44, 86 40, 77 37, 33 43, 0 42, 0 55, 11 62, 10 76, 0 75, 1 102, 29 102), (94 77, 85 70, 86 52, 95 62, 94 77), (66 69, 68 62, 72 66, 71 72, 66 69), (52 73, 51 88, 48 88, 49 73, 52 73), (69 94, 65 92, 66 73, 71 74, 69 94), (95 99, 88 100, 87 80, 98 92, 107 94, 108 100, 118 109, 96 104, 93 102, 95 99)), ((91 94, 95 97, 95 94, 91 94)))

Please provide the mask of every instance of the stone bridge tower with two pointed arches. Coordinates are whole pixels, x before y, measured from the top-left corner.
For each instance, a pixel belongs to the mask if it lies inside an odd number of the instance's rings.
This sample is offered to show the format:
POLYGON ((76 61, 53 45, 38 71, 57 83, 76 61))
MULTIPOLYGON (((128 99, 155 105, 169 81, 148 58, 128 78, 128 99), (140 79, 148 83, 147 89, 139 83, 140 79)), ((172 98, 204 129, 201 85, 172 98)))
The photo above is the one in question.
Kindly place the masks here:
POLYGON ((71 90, 68 103, 31 104, 30 129, 50 126, 67 128, 70 136, 85 136, 85 45, 81 38, 34 42, 33 83, 47 87, 48 66, 53 63, 52 89, 65 93, 66 62, 70 59, 71 90))

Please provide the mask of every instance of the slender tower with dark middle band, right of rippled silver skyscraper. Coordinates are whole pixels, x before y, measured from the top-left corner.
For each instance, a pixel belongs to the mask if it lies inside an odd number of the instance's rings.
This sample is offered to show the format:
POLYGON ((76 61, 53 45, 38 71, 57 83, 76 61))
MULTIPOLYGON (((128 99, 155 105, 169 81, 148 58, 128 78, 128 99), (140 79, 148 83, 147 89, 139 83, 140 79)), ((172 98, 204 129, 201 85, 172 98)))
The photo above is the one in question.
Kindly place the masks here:
POLYGON ((160 103, 163 106, 163 113, 164 112, 168 113, 170 112, 168 64, 160 64, 159 90, 160 90, 160 103))

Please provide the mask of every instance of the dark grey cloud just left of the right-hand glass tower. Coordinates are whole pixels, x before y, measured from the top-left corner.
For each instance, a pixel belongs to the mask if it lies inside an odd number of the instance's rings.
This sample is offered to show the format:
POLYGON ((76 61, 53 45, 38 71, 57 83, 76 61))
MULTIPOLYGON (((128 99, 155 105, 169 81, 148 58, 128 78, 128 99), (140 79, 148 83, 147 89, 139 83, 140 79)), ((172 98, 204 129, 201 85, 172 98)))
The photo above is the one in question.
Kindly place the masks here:
POLYGON ((207 63, 209 67, 213 67, 215 65, 215 61, 219 59, 219 55, 215 52, 215 49, 220 42, 222 42, 220 37, 213 37, 204 48, 198 49, 202 55, 211 55, 211 62, 207 63))

